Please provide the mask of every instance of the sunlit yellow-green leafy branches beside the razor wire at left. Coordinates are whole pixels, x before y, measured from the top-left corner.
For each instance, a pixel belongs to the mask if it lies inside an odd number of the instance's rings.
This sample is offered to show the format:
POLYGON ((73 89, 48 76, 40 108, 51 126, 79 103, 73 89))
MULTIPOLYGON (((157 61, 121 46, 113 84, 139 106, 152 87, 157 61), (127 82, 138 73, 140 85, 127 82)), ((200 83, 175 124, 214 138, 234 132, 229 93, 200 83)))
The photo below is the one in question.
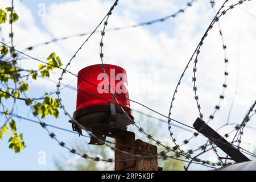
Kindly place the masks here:
MULTIPOLYGON (((5 9, 0 8, 0 24, 4 24, 9 20, 12 26, 18 19, 19 16, 16 11, 14 11, 13 5, 12 7, 6 7, 5 9)), ((13 45, 13 27, 11 27, 10 39, 11 44, 13 45)), ((27 82, 23 81, 20 76, 20 71, 27 70, 19 69, 16 64, 17 56, 18 53, 15 53, 13 46, 8 47, 6 44, 3 44, 3 46, 0 47, 0 59, 3 57, 6 59, 5 61, 0 60, 0 83, 5 85, 5 88, 0 85, 0 104, 3 106, 3 109, 6 108, 6 110, 3 110, 6 120, 4 121, 4 124, 0 126, 0 139, 3 140, 4 135, 11 131, 12 135, 8 140, 9 148, 14 150, 15 153, 26 148, 26 143, 23 139, 23 134, 17 132, 18 125, 16 125, 14 119, 11 118, 11 112, 13 110, 9 111, 4 105, 6 100, 23 100, 23 103, 26 106, 32 106, 34 115, 41 115, 42 119, 44 119, 46 115, 52 115, 55 118, 58 118, 60 115, 60 102, 56 98, 45 96, 40 98, 42 102, 35 101, 33 98, 22 98, 24 93, 30 91, 30 86, 27 82), (15 85, 15 88, 11 88, 10 85, 15 85), (7 115, 9 115, 9 117, 7 117, 7 115)), ((40 64, 38 66, 39 70, 29 70, 33 80, 36 80, 39 71, 42 78, 50 77, 53 69, 59 68, 62 65, 60 57, 56 56, 55 52, 52 52, 47 60, 48 63, 46 65, 40 64)))

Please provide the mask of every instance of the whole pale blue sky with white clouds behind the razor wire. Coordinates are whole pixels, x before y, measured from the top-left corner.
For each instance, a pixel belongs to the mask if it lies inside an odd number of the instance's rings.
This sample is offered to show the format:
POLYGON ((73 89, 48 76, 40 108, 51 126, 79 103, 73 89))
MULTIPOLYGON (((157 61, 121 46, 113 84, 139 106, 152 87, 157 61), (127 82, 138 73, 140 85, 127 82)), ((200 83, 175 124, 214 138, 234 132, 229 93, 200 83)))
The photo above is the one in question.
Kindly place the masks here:
MULTIPOLYGON (((10 6, 10 2, 0 0, 0 8, 10 6)), ((188 0, 141 0, 139 2, 121 0, 110 16, 108 28, 130 26, 170 15, 185 7, 187 2, 188 0)), ((216 9, 221 6, 222 2, 224 1, 216 1, 216 9)), ((236 1, 230 1, 230 3, 232 2, 236 1)), ((19 51, 23 51, 27 47, 52 39, 90 32, 105 16, 113 3, 113 0, 24 0, 22 2, 16 0, 14 7, 20 18, 14 24, 15 47, 19 51)), ((220 19, 224 42, 227 46, 226 57, 229 60, 227 68, 224 64, 224 51, 218 26, 214 26, 209 32, 201 49, 197 67, 197 90, 205 118, 213 113, 214 107, 218 104, 224 83, 224 72, 226 69, 229 72, 225 99, 221 102, 220 111, 209 123, 214 129, 226 123, 233 100, 230 123, 241 123, 246 111, 256 98, 256 77, 253 76, 256 68, 255 12, 256 2, 250 1, 236 7, 220 19)), ((104 62, 116 64, 126 69, 129 94, 132 100, 168 115, 177 81, 179 81, 183 69, 213 17, 214 11, 211 9, 209 1, 197 0, 184 13, 165 22, 106 32, 104 62)), ((10 27, 8 24, 1 25, 1 27, 5 42, 9 43, 10 27)), ((102 28, 102 26, 99 27, 99 30, 102 28)), ((26 53, 38 59, 46 60, 51 52, 56 52, 61 57, 63 64, 66 65, 86 38, 86 36, 80 36, 61 40, 38 46, 32 51, 26 51, 26 53)), ((77 54, 68 70, 77 73, 81 68, 88 65, 100 64, 100 47, 98 46, 100 39, 100 34, 94 34, 77 54)), ((20 67, 27 69, 35 69, 38 65, 37 61, 31 59, 20 61, 20 67)), ((172 118, 189 126, 192 126, 199 116, 193 98, 192 71, 193 65, 191 64, 181 81, 172 110, 172 118)), ((45 92, 55 90, 60 73, 60 71, 55 71, 49 80, 29 80, 31 88, 28 96, 40 97, 45 92)), ((76 79, 72 75, 65 74, 62 83, 71 83, 72 86, 76 87, 76 79)), ((60 96, 68 113, 72 115, 76 109, 76 90, 65 88, 61 91, 60 96)), ((131 108, 141 110, 156 118, 165 119, 134 103, 131 103, 131 108)), ((18 102, 15 113, 35 119, 30 109, 24 107, 23 102, 18 102)), ((173 146, 169 137, 168 125, 159 123, 154 119, 143 118, 135 112, 134 117, 138 125, 156 128, 158 131, 157 134, 155 133, 155 137, 173 146)), ((60 118, 46 117, 44 122, 71 129, 68 121, 69 118, 61 111, 60 118)), ((254 121, 255 117, 251 118, 248 126, 256 127, 254 121)), ((54 161, 60 156, 68 156, 67 162, 79 160, 77 156, 69 154, 52 140, 40 125, 22 119, 17 119, 17 123, 18 131, 24 133, 27 148, 20 154, 15 154, 8 148, 7 139, 10 134, 7 134, 5 139, 0 141, 0 169, 54 170, 56 169, 54 161), (39 162, 42 154, 46 154, 46 164, 39 162)), ((233 127, 233 125, 224 127, 220 130, 220 134, 228 133, 233 130, 233 127)), ((129 130, 136 131, 136 128, 129 126, 129 130)), ((64 131, 56 129, 51 129, 51 131, 57 135, 57 138, 70 146, 73 146, 77 141, 88 142, 88 140, 64 131)), ((245 143, 242 143, 241 146, 246 150, 254 151, 256 147, 254 131, 249 128, 244 131, 242 141, 245 143)), ((138 138, 146 140, 145 136, 137 131, 136 134, 138 138)), ((174 127, 174 136, 177 142, 181 144, 183 140, 191 137, 191 133, 174 127)), ((229 138, 230 140, 232 137, 229 138)), ((183 146, 183 149, 196 148, 204 142, 205 138, 197 137, 183 146)), ((208 152, 201 158, 217 161, 213 152, 208 152)), ((209 168, 193 164, 190 169, 207 170, 209 168)))

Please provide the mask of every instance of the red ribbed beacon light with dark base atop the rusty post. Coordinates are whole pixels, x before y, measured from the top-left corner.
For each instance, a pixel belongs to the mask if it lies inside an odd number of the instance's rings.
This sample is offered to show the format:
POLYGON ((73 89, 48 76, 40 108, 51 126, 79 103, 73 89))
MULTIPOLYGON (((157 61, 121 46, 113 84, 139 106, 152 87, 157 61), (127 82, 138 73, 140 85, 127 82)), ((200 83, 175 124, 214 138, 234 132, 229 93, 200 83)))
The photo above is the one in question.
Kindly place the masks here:
MULTIPOLYGON (((79 71, 76 111, 73 113, 73 119, 103 141, 106 136, 114 138, 126 131, 130 119, 123 110, 134 120, 125 69, 112 64, 104 64, 104 68, 106 74, 101 64, 90 65, 79 71), (113 98, 109 87, 123 110, 113 98)), ((73 122, 72 128, 81 134, 81 128, 73 122)), ((92 137, 89 144, 104 143, 92 137)))

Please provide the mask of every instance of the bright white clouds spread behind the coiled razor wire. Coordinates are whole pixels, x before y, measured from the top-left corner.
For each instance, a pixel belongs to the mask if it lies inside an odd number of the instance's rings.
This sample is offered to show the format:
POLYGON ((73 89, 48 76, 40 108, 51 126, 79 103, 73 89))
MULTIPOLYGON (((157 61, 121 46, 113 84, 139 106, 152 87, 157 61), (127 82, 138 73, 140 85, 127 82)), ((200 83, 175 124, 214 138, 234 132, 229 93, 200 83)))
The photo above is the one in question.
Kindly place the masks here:
MULTIPOLYGON (((216 7, 220 7, 222 1, 216 2, 216 7)), ((111 4, 112 1, 102 2, 98 0, 52 3, 47 9, 48 13, 46 17, 42 18, 42 22, 45 28, 47 28, 47 31, 43 31, 40 30, 35 20, 32 18, 30 10, 22 4, 17 3, 17 9, 22 18, 18 25, 15 26, 15 40, 18 42, 18 40, 26 39, 19 43, 16 48, 23 49, 31 46, 31 44, 50 40, 51 36, 61 37, 93 30, 106 14, 111 4)), ((159 13, 160 16, 170 13, 170 11, 175 11, 178 9, 177 7, 180 6, 180 3, 167 0, 120 2, 117 6, 117 10, 114 10, 113 15, 110 16, 108 27, 126 26, 143 22, 143 20, 139 20, 139 15, 135 14, 138 13, 137 11, 142 11, 143 13, 154 11, 154 13, 159 13), (121 9, 118 9, 119 6, 121 9)), ((253 1, 246 2, 245 5, 241 7, 253 13, 256 10, 256 3, 253 1)), ((130 98, 142 102, 152 109, 167 115, 171 97, 174 93, 179 76, 212 18, 212 10, 209 9, 208 1, 197 1, 195 5, 187 9, 184 14, 180 14, 172 21, 167 21, 165 23, 166 28, 159 32, 154 32, 154 28, 150 29, 150 27, 128 28, 120 31, 106 32, 104 37, 104 61, 105 63, 117 64, 125 68, 128 82, 133 82, 134 80, 132 78, 141 73, 157 74, 159 76, 159 97, 157 100, 148 100, 147 94, 136 93, 134 90, 130 90, 130 98), (173 34, 170 32, 173 32, 173 34)), ((221 110, 218 111, 214 121, 210 123, 214 129, 222 123, 225 123, 233 99, 237 81, 238 46, 240 82, 231 121, 236 123, 241 122, 251 102, 255 99, 256 78, 253 76, 253 73, 255 72, 256 66, 256 55, 254 51, 256 26, 254 21, 255 18, 253 18, 253 16, 239 8, 230 11, 230 13, 220 20, 225 44, 228 46, 229 77, 228 89, 225 92, 226 97, 222 102, 221 110)), ((222 91, 221 86, 224 81, 224 53, 216 25, 213 30, 210 31, 204 42, 204 47, 199 56, 197 72, 199 99, 205 118, 213 112, 214 106, 218 103, 218 97, 222 91)), ((5 29, 5 35, 7 35, 8 31, 9 30, 5 29)), ((51 51, 56 51, 57 55, 60 55, 63 59, 63 63, 67 64, 73 53, 85 39, 86 38, 83 37, 64 40, 62 42, 49 44, 48 46, 39 47, 34 51, 28 52, 28 54, 35 57, 46 57, 51 51)), ((68 70, 77 73, 82 67, 100 63, 99 42, 100 34, 95 34, 89 42, 85 44, 84 48, 81 49, 68 70)), ((22 65, 32 68, 36 67, 38 63, 32 60, 24 60, 22 65)), ((191 73, 192 65, 189 67, 180 85, 173 110, 174 118, 190 126, 198 115, 196 103, 193 98, 191 73)), ((65 77, 69 80, 75 78, 68 74, 65 75, 65 77)), ((56 75, 52 78, 57 80, 58 76, 56 75)), ((142 78, 137 78, 137 80, 146 81, 142 78)), ((67 83, 69 81, 64 79, 63 82, 67 83)), ((52 82, 35 83, 35 85, 42 84, 47 86, 47 89, 55 89, 56 85, 52 82)), ((75 99, 76 91, 72 90, 71 92, 70 94, 75 99)), ((68 100, 67 98, 65 99, 65 95, 62 95, 62 97, 64 98, 64 104, 67 104, 68 100)), ((142 109, 142 107, 138 105, 132 103, 131 105, 133 108, 142 109)), ((72 112, 73 111, 70 110, 70 113, 72 112)), ((255 126, 253 121, 251 122, 251 126, 255 126)), ((232 127, 226 127, 225 132, 230 131, 232 127)), ((167 137, 167 126, 162 130, 164 131, 162 133, 163 136, 160 137, 167 137)), ((191 134, 184 135, 183 132, 184 131, 178 131, 175 133, 179 143, 191 136, 191 134)), ((225 134, 225 132, 223 132, 223 134, 225 134)), ((244 140, 255 142, 251 140, 253 133, 250 133, 249 130, 247 133, 245 134, 244 140)), ((203 144, 198 142, 197 139, 191 143, 192 144, 188 145, 188 148, 193 148, 193 144, 196 146, 203 144)), ((244 147, 250 148, 250 150, 253 148, 247 145, 244 147)), ((210 155, 208 155, 208 158, 209 157, 210 155)))

